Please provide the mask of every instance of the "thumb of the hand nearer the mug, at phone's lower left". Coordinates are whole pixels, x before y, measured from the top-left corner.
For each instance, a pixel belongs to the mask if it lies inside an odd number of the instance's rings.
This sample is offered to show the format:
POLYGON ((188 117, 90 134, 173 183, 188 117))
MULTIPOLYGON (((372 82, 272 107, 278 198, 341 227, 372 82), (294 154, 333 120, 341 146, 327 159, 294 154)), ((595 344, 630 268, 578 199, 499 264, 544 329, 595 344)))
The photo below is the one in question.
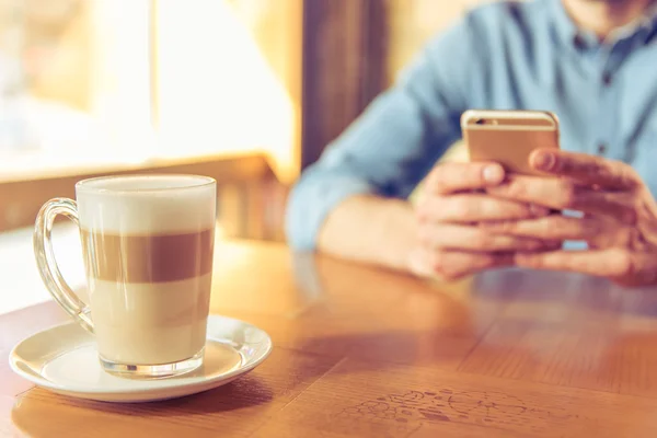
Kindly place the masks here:
POLYGON ((440 195, 474 191, 497 185, 504 176, 504 169, 497 163, 445 163, 431 171, 426 189, 440 195))

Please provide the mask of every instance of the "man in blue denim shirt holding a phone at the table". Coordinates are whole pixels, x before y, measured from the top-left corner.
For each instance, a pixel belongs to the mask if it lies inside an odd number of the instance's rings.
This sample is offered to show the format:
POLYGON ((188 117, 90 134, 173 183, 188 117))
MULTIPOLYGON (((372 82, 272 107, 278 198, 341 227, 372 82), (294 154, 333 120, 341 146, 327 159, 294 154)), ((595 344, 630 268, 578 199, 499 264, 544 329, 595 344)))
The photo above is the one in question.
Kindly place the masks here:
POLYGON ((533 0, 437 36, 295 187, 292 247, 454 279, 499 266, 657 283, 657 4, 533 0), (469 108, 546 110, 562 151, 530 164, 437 159, 469 108), (426 178, 425 195, 406 200, 426 178), (581 212, 579 216, 555 210, 581 212), (586 242, 562 249, 562 242, 586 242))

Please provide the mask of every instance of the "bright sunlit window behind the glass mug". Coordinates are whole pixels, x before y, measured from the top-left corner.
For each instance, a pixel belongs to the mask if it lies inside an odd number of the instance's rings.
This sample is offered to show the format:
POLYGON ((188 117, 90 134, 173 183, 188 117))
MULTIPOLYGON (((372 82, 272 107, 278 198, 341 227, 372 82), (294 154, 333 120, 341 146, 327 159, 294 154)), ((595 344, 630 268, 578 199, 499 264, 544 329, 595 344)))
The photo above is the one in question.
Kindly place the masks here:
POLYGON ((296 176, 301 0, 0 0, 0 176, 266 153, 296 176))

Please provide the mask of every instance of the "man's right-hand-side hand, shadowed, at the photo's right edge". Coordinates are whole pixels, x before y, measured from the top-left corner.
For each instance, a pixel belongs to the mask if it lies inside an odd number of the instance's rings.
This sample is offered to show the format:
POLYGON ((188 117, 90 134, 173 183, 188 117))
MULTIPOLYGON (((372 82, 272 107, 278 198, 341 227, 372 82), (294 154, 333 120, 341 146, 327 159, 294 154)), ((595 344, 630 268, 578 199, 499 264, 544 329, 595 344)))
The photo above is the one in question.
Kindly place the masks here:
POLYGON ((500 199, 575 210, 584 216, 555 214, 487 223, 484 228, 505 235, 586 241, 588 250, 520 253, 516 264, 574 270, 632 286, 657 283, 657 205, 630 165, 549 150, 535 151, 530 164, 557 177, 510 175, 487 192, 500 199))

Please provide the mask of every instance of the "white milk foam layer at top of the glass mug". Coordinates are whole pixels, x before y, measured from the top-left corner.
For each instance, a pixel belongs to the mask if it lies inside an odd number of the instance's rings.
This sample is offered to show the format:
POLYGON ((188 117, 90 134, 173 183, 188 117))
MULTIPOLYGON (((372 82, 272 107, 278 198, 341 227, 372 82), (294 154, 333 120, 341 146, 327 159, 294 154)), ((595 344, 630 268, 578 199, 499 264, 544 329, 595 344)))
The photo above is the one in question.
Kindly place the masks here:
POLYGON ((215 227, 214 180, 194 175, 92 178, 76 186, 80 227, 113 234, 173 234, 215 227))

